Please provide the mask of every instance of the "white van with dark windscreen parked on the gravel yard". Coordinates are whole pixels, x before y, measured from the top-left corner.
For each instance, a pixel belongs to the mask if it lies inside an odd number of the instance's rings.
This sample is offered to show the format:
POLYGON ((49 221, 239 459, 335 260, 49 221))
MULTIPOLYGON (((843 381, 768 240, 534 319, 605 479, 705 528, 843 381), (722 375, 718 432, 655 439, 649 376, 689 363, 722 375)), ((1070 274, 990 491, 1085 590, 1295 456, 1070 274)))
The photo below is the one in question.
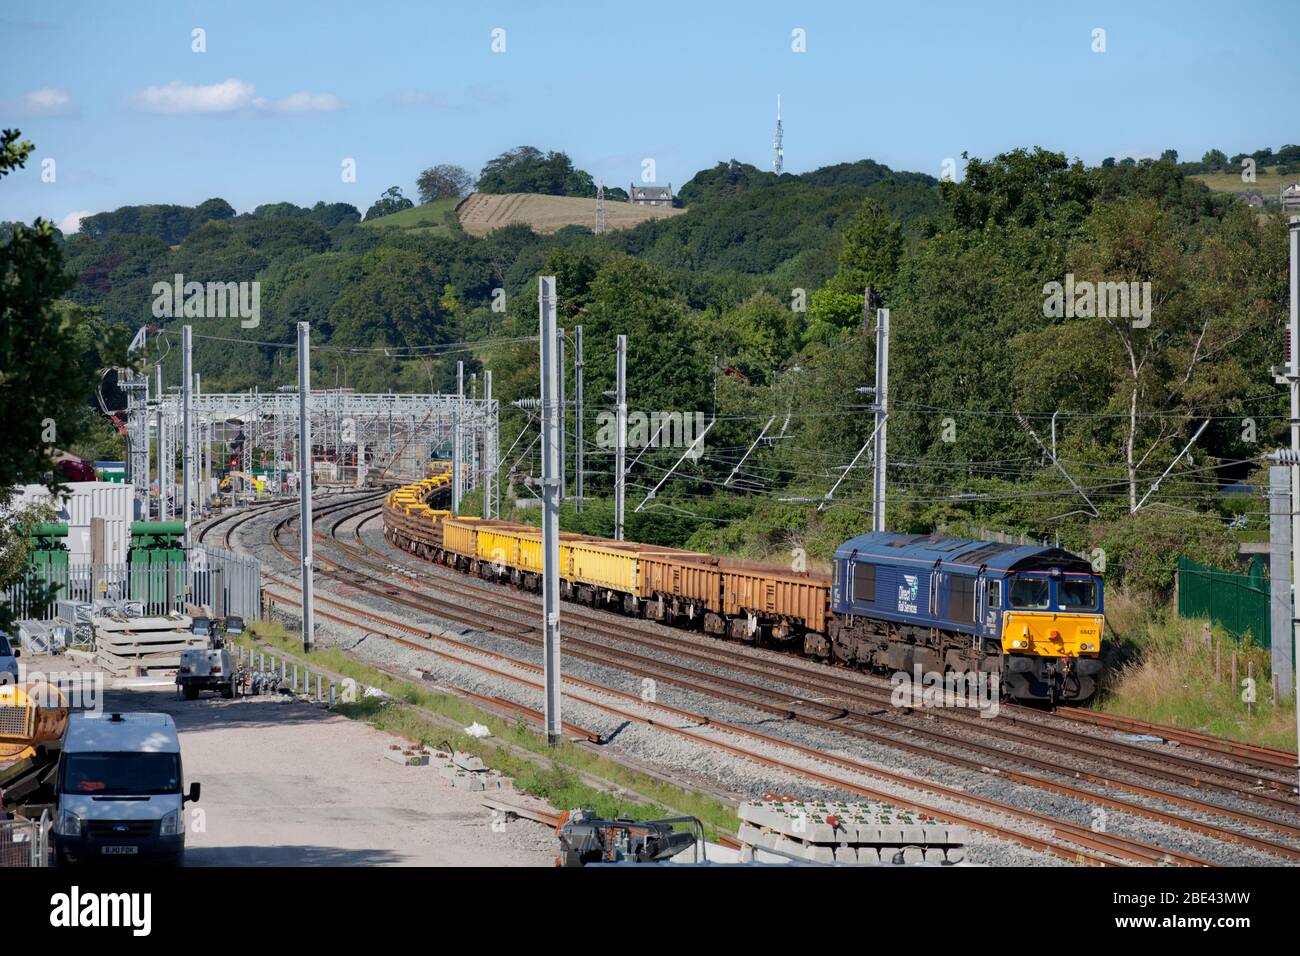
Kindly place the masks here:
POLYGON ((60 864, 109 857, 185 858, 181 741, 168 714, 73 714, 58 758, 55 855, 60 864))

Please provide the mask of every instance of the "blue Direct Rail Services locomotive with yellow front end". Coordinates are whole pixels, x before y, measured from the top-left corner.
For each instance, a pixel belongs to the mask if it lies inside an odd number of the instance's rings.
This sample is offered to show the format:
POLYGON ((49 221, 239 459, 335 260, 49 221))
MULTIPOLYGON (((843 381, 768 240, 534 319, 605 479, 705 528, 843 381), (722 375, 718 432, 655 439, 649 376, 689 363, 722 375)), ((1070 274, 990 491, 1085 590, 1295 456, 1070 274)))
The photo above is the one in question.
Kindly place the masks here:
POLYGON ((835 554, 824 639, 850 666, 998 675, 1017 700, 1082 704, 1101 675, 1101 578, 1060 548, 871 532, 835 554))

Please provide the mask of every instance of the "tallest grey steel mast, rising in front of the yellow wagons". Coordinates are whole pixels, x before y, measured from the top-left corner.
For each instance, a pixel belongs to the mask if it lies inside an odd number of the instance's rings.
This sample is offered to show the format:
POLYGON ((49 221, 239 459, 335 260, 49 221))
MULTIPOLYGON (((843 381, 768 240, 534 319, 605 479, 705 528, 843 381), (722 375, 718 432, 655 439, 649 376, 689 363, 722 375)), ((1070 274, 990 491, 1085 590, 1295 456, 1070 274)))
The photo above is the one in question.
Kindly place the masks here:
POLYGON ((559 743, 560 722, 560 510, 559 363, 555 277, 537 280, 542 392, 542 633, 546 671, 546 739, 559 743))

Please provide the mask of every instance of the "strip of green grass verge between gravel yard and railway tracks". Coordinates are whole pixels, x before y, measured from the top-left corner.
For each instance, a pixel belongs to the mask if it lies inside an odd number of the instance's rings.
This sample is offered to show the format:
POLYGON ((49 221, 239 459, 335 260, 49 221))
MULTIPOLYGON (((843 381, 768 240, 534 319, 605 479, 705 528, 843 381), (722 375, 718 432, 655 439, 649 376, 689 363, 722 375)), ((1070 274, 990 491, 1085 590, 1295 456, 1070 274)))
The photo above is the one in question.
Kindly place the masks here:
POLYGON ((521 719, 506 721, 462 697, 438 693, 411 680, 391 676, 337 648, 320 648, 304 654, 300 644, 277 623, 259 622, 250 628, 250 635, 285 652, 290 661, 296 658, 302 663, 317 665, 322 670, 352 678, 359 684, 377 687, 387 695, 387 697, 361 697, 350 704, 335 704, 335 713, 364 721, 377 730, 419 740, 429 747, 447 741, 455 749, 477 753, 488 766, 515 778, 516 790, 541 797, 558 809, 581 806, 602 817, 633 819, 689 814, 699 818, 710 839, 715 839, 720 832, 734 834, 740 826, 736 814, 708 795, 647 777, 568 740, 550 747, 542 735, 529 730, 521 719), (430 721, 421 710, 450 718, 459 727, 477 721, 491 730, 494 736, 476 739, 460 731, 450 731, 430 721), (551 766, 538 766, 502 747, 502 743, 536 753, 551 766), (655 803, 610 793, 585 783, 580 779, 582 775, 633 790, 655 803))

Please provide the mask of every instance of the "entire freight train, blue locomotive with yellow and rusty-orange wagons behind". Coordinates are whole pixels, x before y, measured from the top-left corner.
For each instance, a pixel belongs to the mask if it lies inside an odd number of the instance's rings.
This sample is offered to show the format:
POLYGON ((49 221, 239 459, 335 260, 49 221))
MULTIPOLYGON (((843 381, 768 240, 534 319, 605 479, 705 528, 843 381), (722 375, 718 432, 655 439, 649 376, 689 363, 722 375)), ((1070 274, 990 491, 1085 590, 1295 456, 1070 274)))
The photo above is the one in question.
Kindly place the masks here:
MULTIPOLYGON (((385 537, 486 580, 541 589, 536 527, 452 515, 443 462, 391 492, 385 537)), ((560 596, 852 667, 996 675, 1020 701, 1082 704, 1101 676, 1102 585, 1091 564, 1037 545, 872 532, 832 574, 560 533, 560 596)))

